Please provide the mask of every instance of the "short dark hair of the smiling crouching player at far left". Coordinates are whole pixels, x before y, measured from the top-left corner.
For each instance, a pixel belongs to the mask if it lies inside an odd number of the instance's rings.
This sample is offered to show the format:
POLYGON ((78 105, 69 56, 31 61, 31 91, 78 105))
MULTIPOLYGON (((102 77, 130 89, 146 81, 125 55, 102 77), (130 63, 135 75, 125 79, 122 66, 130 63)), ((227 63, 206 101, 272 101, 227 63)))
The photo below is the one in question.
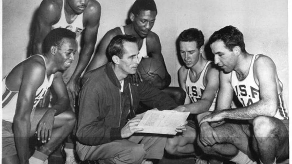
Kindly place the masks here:
POLYGON ((52 29, 43 40, 43 53, 49 52, 51 46, 61 47, 64 38, 75 39, 76 33, 64 28, 52 29))

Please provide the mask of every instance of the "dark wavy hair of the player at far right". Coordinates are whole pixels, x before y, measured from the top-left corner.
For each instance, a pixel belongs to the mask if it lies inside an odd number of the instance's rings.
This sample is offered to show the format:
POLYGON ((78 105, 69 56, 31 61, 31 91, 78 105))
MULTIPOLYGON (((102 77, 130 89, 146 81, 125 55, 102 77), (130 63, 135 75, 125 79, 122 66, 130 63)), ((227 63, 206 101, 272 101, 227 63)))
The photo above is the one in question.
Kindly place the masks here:
POLYGON ((243 41, 243 34, 234 26, 229 25, 218 31, 215 31, 210 36, 209 43, 212 44, 217 40, 222 40, 230 51, 233 50, 233 47, 239 46, 243 53, 246 52, 243 41))

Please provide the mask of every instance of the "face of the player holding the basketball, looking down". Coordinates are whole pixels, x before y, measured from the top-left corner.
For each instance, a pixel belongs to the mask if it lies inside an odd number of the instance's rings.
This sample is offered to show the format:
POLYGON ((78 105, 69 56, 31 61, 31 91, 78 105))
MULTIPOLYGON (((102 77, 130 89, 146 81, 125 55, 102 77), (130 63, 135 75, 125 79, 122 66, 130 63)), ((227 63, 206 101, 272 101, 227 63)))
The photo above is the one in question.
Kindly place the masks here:
POLYGON ((134 30, 141 38, 147 37, 149 31, 154 26, 156 14, 156 11, 150 10, 142 10, 138 15, 130 14, 134 30))

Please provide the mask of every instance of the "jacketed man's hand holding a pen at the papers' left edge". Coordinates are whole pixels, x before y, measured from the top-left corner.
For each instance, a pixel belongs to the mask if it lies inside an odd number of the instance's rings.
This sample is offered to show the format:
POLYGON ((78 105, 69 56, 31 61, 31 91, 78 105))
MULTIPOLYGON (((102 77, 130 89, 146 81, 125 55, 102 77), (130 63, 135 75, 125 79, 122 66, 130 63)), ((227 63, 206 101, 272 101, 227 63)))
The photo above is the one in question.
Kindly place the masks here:
POLYGON ((122 138, 128 138, 135 132, 142 131, 143 128, 137 128, 137 125, 139 124, 140 121, 141 121, 140 119, 128 121, 127 124, 121 130, 122 138))

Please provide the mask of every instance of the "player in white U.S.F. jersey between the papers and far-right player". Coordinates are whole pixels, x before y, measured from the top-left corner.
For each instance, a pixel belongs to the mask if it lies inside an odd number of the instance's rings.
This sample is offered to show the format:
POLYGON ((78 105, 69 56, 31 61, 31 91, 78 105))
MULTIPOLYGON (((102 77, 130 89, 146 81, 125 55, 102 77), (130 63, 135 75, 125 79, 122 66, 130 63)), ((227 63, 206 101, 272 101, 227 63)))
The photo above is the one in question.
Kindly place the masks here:
MULTIPOLYGON (((188 94, 184 105, 174 110, 198 114, 215 108, 219 87, 219 70, 214 63, 206 60, 204 51, 204 35, 198 29, 186 29, 178 37, 179 50, 184 66, 179 69, 180 87, 188 94)), ((189 121, 190 122, 190 121, 189 121)), ((188 126, 182 135, 169 138, 165 149, 173 155, 196 155, 196 126, 188 126)))

